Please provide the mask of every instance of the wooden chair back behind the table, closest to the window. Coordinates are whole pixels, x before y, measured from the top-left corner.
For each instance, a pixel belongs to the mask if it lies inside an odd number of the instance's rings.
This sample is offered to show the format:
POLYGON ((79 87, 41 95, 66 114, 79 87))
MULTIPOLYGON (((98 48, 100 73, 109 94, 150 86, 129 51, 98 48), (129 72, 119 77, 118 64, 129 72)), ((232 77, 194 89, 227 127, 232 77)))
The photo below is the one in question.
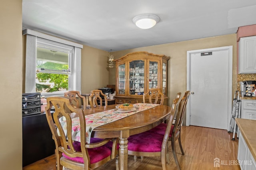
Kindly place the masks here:
POLYGON ((68 97, 70 103, 74 104, 77 108, 86 109, 86 99, 78 91, 67 91, 64 97, 68 97))

